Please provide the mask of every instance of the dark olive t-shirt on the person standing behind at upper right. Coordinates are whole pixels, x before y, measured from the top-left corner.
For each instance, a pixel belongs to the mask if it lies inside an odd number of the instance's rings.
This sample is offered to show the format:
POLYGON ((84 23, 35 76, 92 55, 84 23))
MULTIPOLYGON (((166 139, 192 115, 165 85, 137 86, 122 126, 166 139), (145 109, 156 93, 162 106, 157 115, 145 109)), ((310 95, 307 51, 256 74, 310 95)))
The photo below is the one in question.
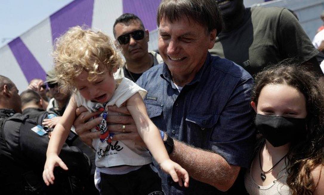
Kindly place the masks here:
POLYGON ((289 10, 252 7, 246 8, 245 19, 237 29, 216 37, 210 53, 234 61, 253 76, 266 65, 287 58, 306 62, 318 51, 289 10))

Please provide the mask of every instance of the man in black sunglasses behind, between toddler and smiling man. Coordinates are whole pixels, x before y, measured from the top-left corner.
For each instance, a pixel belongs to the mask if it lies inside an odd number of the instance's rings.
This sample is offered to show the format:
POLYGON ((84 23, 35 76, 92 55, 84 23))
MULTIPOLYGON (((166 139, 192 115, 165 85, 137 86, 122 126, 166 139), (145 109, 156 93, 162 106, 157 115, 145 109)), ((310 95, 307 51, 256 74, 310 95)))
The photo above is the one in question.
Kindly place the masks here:
POLYGON ((118 17, 113 26, 117 47, 125 57, 125 65, 114 74, 115 78, 126 77, 136 82, 143 72, 163 62, 155 51, 148 52, 149 32, 134 14, 118 17))

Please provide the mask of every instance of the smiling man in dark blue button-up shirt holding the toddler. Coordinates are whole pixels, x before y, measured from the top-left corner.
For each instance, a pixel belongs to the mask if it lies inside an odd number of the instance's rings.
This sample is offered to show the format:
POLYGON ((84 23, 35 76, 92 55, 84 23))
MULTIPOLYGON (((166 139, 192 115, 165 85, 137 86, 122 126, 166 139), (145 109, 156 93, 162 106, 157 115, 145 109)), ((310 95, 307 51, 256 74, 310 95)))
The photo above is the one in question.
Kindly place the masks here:
POLYGON ((148 91, 144 101, 151 120, 167 133, 170 158, 192 178, 188 189, 179 188, 161 172, 163 190, 167 194, 226 191, 240 167, 249 166, 253 80, 232 61, 208 52, 222 29, 214 0, 163 0, 157 23, 158 48, 165 63, 145 72, 137 83, 148 91))

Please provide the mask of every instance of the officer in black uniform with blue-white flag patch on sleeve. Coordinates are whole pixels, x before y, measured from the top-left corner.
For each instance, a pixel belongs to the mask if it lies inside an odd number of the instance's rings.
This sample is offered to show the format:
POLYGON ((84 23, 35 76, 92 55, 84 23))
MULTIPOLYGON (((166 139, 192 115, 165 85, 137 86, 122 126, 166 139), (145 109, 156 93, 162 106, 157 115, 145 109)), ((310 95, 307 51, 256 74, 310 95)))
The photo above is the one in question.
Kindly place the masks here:
POLYGON ((16 85, 0 75, 0 194, 82 194, 82 180, 90 171, 88 158, 78 148, 64 145, 60 158, 69 170, 57 167, 56 184, 46 187, 42 172, 48 136, 20 113, 16 85))

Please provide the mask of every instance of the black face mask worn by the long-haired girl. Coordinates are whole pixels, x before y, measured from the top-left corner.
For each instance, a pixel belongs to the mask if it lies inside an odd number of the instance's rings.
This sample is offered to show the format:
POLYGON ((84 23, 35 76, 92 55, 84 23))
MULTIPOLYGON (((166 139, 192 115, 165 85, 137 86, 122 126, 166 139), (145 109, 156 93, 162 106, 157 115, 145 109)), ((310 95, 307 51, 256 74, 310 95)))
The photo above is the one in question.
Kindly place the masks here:
POLYGON ((306 119, 257 114, 255 126, 273 147, 279 147, 305 134, 306 119))

